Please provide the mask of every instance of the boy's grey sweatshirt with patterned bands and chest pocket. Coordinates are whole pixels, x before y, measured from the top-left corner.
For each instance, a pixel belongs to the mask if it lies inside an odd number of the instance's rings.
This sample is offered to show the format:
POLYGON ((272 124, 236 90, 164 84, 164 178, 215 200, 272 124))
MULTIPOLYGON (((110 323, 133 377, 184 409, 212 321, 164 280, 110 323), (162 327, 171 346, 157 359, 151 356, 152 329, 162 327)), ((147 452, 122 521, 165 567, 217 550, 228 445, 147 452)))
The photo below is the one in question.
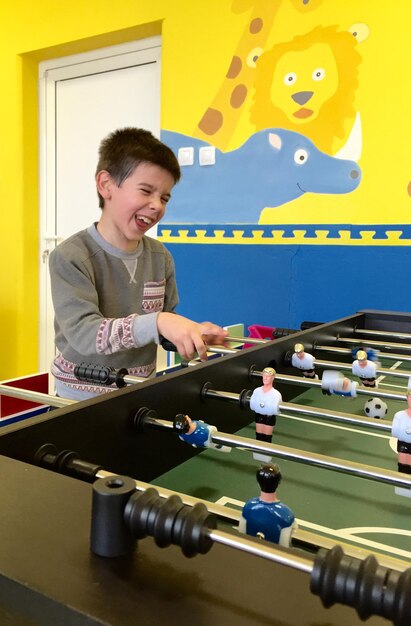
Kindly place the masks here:
POLYGON ((158 313, 178 303, 173 258, 162 243, 144 236, 124 252, 93 224, 50 254, 50 277, 59 395, 77 400, 110 390, 76 380, 74 367, 83 362, 140 377, 155 371, 158 313))

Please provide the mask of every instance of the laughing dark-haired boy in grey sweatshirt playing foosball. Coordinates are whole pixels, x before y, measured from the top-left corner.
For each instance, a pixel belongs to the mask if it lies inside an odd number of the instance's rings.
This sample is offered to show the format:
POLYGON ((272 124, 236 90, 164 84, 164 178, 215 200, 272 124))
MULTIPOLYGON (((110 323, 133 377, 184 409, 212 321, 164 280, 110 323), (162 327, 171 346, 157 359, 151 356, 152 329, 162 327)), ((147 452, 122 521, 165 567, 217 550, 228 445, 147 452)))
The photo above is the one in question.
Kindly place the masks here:
POLYGON ((174 313, 178 303, 174 262, 146 231, 163 217, 180 179, 173 152, 150 132, 123 128, 100 145, 96 171, 98 223, 61 243, 50 255, 58 354, 52 373, 56 393, 82 400, 111 388, 80 383, 75 365, 126 367, 130 375, 155 372, 159 335, 183 358, 227 332, 174 313))

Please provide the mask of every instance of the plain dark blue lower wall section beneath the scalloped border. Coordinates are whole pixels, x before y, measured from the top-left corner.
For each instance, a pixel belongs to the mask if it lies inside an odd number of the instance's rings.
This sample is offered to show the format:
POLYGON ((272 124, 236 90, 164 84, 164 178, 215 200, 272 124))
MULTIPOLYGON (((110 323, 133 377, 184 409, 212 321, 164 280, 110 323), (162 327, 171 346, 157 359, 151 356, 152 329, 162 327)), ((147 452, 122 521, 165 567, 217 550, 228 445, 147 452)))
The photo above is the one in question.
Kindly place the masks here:
POLYGON ((165 245, 178 311, 198 321, 299 328, 361 309, 410 310, 409 246, 165 245))

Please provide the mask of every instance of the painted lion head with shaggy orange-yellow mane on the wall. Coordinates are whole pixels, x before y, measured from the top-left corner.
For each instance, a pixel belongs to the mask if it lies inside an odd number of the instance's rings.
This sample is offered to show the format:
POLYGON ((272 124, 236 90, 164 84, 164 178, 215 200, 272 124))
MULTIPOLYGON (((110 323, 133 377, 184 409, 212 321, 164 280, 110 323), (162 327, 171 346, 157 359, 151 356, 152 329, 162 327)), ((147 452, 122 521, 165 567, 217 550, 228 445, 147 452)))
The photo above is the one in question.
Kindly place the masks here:
POLYGON ((318 26, 260 56, 250 107, 256 130, 298 131, 329 154, 341 147, 357 113, 358 43, 368 36, 365 25, 356 26, 318 26))

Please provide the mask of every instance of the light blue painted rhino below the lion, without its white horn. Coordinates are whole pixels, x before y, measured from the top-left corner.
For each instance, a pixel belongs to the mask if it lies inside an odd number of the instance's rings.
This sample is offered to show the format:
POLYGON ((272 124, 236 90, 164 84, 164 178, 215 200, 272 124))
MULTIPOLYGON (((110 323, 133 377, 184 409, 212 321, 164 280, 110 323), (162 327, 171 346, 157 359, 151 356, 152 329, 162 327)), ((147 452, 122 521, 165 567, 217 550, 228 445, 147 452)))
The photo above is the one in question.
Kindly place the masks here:
POLYGON ((164 224, 255 224, 266 207, 304 193, 350 193, 361 181, 354 161, 329 156, 281 128, 261 130, 230 152, 216 148, 215 165, 199 165, 199 149, 210 145, 204 141, 171 131, 161 139, 177 155, 194 148, 194 164, 182 167, 164 224))

